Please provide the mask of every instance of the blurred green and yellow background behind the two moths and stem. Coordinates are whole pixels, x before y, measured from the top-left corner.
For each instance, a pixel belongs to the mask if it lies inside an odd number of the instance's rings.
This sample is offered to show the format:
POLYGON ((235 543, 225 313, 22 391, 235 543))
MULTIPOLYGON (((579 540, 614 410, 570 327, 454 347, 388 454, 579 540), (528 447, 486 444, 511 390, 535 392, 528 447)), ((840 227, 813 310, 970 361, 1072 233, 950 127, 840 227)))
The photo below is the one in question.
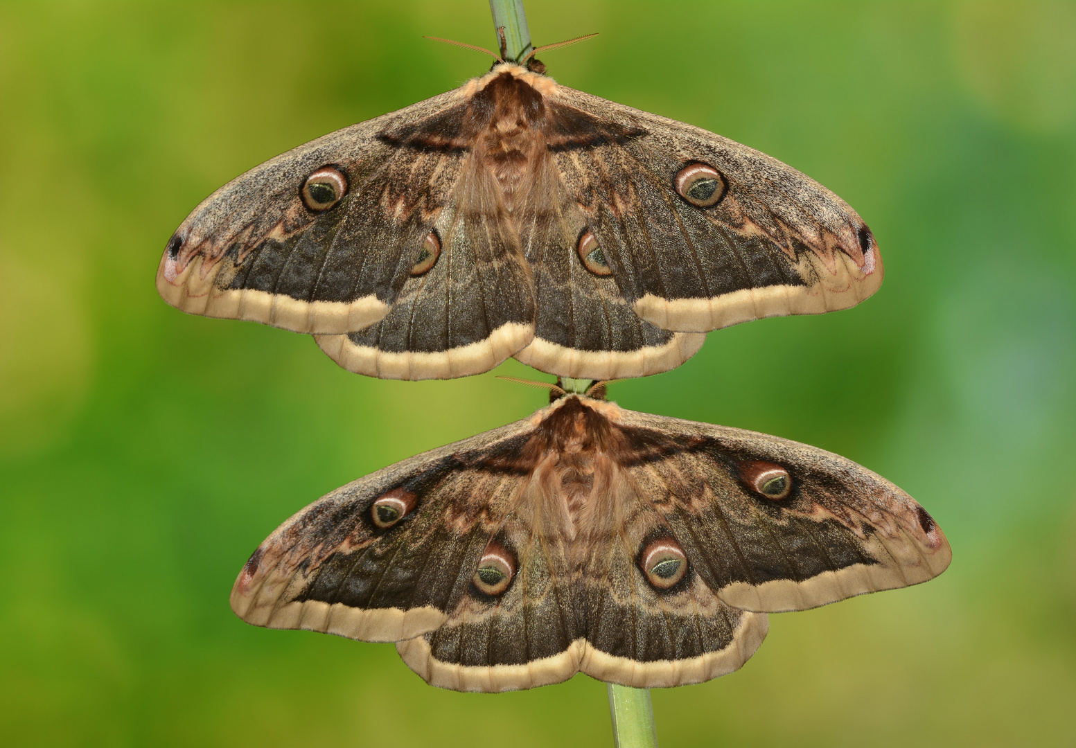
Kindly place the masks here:
MULTIPOLYGON (((569 86, 763 150, 866 218, 880 293, 710 335, 622 405, 839 452, 937 518, 929 584, 773 616, 655 691, 661 743, 1076 745, 1076 5, 528 0, 569 86)), ((608 745, 605 687, 425 686, 391 645, 239 621, 281 521, 527 415, 188 316, 165 242, 236 174, 484 72, 485 0, 0 2, 6 745, 608 745)), ((501 373, 536 377, 509 362, 501 373)))

